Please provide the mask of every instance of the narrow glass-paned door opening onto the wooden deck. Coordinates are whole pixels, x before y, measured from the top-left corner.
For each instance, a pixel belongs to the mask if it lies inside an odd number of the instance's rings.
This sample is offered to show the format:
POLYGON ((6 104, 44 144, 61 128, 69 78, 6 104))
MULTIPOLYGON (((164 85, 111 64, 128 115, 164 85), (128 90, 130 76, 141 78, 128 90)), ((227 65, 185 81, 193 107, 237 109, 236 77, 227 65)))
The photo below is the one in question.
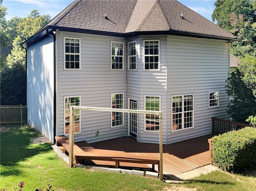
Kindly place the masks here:
MULTIPOLYGON (((130 100, 130 109, 137 110, 137 101, 130 100)), ((137 113, 130 113, 130 136, 137 139, 137 113)))

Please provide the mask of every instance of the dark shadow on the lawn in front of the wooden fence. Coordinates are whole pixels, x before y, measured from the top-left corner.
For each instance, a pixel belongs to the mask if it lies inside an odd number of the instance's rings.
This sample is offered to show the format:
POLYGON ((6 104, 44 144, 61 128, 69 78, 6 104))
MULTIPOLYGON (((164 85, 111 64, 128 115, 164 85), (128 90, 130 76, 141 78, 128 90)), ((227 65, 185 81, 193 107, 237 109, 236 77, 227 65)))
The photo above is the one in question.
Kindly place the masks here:
MULTIPOLYGON (((34 129, 24 126, 1 132, 0 165, 15 166, 19 161, 51 150, 50 144, 33 145, 30 142, 31 138, 39 136, 40 134, 37 134, 34 129)), ((15 168, 12 169, 14 170, 12 173, 16 173, 15 168)))

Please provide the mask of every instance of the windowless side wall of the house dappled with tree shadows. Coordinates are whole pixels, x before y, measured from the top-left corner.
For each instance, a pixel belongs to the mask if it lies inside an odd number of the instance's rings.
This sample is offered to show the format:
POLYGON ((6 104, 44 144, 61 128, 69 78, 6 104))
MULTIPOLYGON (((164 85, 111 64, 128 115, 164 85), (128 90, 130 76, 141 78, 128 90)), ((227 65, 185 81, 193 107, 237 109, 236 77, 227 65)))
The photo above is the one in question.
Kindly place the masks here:
POLYGON ((54 106, 54 43, 47 37, 27 48, 27 105, 31 126, 51 142, 54 106))

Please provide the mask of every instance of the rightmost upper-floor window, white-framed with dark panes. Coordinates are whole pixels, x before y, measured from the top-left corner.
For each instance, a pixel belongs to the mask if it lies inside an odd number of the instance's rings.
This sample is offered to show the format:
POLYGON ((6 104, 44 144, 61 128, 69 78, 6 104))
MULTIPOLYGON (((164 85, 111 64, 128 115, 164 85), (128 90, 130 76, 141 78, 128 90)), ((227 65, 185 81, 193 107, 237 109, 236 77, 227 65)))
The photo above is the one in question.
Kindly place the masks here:
POLYGON ((144 69, 159 70, 159 40, 144 41, 144 69))

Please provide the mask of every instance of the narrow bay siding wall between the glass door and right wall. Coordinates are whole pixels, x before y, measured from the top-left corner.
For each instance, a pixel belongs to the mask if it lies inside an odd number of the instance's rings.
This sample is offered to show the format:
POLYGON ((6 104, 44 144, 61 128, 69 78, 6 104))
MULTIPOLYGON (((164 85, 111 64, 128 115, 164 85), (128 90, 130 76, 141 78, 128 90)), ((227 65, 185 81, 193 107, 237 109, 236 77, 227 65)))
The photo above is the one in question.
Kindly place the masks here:
MULTIPOLYGON (((153 95, 161 97, 160 109, 163 111, 163 144, 167 144, 166 136, 166 73, 167 73, 167 50, 166 35, 140 36, 140 109, 145 109, 144 96, 153 95), (160 40, 160 71, 144 70, 144 42, 143 40, 160 40)), ((144 115, 140 115, 140 142, 159 143, 159 132, 145 131, 144 115)))

